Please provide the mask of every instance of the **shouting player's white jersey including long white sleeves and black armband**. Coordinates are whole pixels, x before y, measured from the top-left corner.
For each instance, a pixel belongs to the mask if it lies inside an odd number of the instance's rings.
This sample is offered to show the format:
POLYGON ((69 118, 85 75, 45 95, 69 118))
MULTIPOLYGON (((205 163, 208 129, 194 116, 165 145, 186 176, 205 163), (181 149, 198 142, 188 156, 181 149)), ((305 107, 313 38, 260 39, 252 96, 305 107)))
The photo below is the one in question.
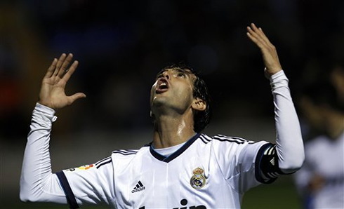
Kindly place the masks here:
POLYGON ((240 208, 245 191, 298 170, 303 141, 284 72, 271 77, 276 145, 197 133, 172 154, 148 145, 117 150, 98 163, 52 173, 49 140, 53 109, 37 104, 27 139, 20 199, 106 203, 112 208, 240 208))

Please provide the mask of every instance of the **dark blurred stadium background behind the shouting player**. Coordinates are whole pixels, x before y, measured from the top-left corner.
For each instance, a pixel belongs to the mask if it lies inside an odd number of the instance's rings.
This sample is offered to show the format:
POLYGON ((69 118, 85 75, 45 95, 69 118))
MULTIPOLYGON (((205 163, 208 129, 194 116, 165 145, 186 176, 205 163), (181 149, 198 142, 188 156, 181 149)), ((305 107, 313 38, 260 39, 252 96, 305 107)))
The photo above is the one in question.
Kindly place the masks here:
MULTIPOLYGON (((246 25, 263 27, 277 46, 297 100, 303 86, 343 60, 343 2, 1 0, 0 205, 67 208, 18 198, 41 78, 61 53, 74 53, 80 62, 67 93, 82 91, 87 98, 57 113, 54 171, 150 142, 150 87, 159 69, 180 61, 198 69, 209 85, 214 111, 205 133, 272 141, 270 86, 246 25)), ((249 191, 242 208, 301 208, 301 203, 289 176, 249 191)))

